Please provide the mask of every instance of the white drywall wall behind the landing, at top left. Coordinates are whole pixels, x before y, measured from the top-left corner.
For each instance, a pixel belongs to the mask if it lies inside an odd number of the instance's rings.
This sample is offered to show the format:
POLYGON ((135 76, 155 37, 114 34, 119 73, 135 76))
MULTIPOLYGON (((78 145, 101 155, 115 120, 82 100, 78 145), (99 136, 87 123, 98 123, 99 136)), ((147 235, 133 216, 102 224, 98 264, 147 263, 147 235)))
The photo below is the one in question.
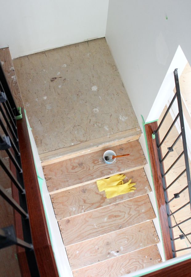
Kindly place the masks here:
POLYGON ((0 48, 12 58, 105 36, 109 0, 0 0, 0 48))

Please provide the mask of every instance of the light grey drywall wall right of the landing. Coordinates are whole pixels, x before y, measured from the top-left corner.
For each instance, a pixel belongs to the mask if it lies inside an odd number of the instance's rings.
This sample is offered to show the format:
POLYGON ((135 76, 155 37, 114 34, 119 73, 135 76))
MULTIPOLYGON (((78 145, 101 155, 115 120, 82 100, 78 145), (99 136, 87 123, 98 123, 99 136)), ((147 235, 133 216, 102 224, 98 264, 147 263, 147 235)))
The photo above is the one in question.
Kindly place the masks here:
POLYGON ((191 64, 190 12, 190 0, 109 1, 106 40, 141 127, 179 45, 191 64))

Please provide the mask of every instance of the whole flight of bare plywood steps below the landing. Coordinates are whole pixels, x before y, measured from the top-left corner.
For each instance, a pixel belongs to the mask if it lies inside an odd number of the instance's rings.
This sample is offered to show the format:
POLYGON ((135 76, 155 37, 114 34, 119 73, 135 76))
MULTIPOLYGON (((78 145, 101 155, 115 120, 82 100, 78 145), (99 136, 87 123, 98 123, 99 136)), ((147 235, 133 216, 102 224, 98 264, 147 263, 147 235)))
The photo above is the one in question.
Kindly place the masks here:
POLYGON ((74 277, 116 277, 161 262, 140 143, 109 149, 131 155, 108 165, 107 148, 43 167, 74 277), (136 183, 136 191, 107 199, 95 181, 119 173, 127 176, 124 183, 136 183))

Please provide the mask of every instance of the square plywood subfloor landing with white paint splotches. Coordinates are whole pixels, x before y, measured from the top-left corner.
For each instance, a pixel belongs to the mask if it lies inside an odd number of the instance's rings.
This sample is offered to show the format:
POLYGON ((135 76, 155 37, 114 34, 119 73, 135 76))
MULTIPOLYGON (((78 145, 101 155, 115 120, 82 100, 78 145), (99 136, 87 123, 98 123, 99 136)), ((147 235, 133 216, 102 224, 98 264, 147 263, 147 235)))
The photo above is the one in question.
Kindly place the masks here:
POLYGON ((139 127, 105 38, 13 62, 39 154, 139 127))

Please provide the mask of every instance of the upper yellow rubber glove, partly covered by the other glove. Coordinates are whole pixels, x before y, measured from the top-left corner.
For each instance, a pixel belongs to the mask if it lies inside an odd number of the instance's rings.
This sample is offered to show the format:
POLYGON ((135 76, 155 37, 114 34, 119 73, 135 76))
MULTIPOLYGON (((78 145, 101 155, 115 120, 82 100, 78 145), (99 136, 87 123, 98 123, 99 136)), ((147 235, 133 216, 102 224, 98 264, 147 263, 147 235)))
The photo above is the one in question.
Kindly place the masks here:
POLYGON ((123 184, 123 179, 126 177, 124 174, 116 174, 107 179, 101 179, 97 181, 99 191, 104 191, 105 187, 111 187, 123 184))

